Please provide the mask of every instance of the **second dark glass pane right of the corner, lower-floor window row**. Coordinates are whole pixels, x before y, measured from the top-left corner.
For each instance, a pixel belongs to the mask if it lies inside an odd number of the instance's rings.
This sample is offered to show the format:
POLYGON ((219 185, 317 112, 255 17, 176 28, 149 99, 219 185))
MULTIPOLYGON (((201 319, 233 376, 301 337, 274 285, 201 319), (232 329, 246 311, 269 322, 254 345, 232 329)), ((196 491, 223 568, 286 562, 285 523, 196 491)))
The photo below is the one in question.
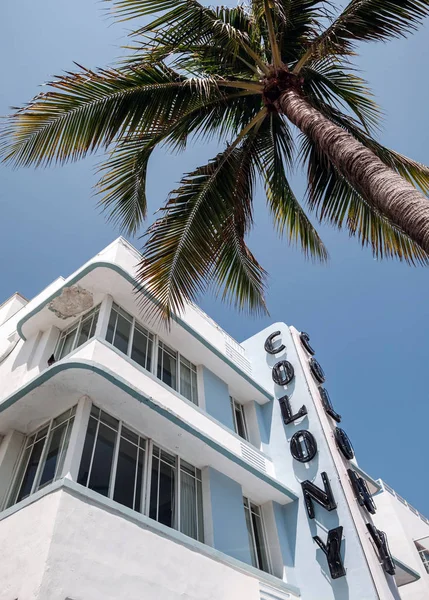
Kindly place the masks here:
POLYGON ((100 423, 88 487, 103 496, 109 494, 116 435, 116 431, 100 423))

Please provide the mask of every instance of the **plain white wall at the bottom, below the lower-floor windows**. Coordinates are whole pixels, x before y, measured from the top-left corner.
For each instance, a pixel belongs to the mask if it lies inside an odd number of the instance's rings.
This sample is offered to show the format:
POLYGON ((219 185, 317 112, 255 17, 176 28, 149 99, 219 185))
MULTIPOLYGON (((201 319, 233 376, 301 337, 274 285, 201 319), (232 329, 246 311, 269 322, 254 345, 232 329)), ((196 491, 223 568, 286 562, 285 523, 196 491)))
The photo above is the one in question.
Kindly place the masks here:
POLYGON ((0 539, 1 600, 260 597, 258 579, 66 491, 4 519, 0 539))

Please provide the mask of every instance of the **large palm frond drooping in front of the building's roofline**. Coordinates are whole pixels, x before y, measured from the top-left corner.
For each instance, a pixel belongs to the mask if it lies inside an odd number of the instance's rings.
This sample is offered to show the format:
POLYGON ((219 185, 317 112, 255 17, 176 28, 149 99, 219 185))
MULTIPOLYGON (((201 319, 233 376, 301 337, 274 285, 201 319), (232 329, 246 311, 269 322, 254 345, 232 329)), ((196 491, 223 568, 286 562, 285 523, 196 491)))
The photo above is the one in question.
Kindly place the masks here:
MULTIPOLYGON (((264 117, 261 111, 260 120, 264 117)), ((226 294, 240 285, 237 300, 242 308, 264 306, 263 272, 245 251, 244 240, 240 251, 236 246, 239 231, 246 232, 251 223, 253 168, 243 166, 252 160, 250 139, 250 133, 239 136, 207 165, 186 175, 168 200, 164 216, 148 230, 139 278, 167 319, 183 310, 187 300, 195 300, 208 281, 217 282, 226 294), (235 250, 227 250, 227 244, 235 245, 235 250), (228 275, 228 257, 242 262, 240 274, 228 275)))

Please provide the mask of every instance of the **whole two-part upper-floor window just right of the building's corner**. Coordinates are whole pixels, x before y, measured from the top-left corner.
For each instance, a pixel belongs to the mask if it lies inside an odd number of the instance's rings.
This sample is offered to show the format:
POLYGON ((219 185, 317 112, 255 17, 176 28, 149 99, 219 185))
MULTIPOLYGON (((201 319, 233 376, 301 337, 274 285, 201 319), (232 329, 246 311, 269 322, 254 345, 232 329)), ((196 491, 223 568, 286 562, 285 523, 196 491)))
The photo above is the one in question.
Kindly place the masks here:
POLYGON ((197 367, 161 340, 153 365, 155 336, 117 304, 110 313, 106 340, 148 371, 156 371, 158 379, 198 405, 197 367))

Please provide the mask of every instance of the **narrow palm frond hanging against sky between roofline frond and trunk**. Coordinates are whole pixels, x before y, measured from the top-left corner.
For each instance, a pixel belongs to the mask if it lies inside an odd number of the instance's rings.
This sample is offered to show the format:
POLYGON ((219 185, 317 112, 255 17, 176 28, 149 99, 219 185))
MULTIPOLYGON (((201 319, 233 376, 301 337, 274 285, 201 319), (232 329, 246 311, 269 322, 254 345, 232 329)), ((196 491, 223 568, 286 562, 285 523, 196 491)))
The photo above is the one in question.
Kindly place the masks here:
POLYGON ((296 199, 285 174, 285 167, 291 166, 294 155, 287 123, 278 115, 271 114, 264 131, 260 131, 260 137, 258 165, 275 227, 281 235, 287 234, 290 242, 299 244, 305 255, 325 261, 328 258, 326 248, 296 199))

